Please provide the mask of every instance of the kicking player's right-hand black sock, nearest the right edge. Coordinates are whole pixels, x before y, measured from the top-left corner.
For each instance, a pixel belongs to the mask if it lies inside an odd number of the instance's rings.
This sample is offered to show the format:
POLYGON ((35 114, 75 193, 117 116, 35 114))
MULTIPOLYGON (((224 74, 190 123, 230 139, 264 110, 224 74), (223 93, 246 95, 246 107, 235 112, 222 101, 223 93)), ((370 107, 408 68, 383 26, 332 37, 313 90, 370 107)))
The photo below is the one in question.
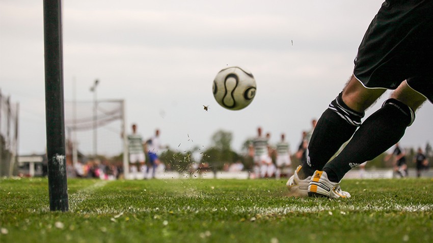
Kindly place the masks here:
POLYGON ((395 99, 385 101, 371 114, 341 153, 324 166, 328 178, 339 182, 350 169, 372 160, 396 144, 415 119, 407 105, 395 99))

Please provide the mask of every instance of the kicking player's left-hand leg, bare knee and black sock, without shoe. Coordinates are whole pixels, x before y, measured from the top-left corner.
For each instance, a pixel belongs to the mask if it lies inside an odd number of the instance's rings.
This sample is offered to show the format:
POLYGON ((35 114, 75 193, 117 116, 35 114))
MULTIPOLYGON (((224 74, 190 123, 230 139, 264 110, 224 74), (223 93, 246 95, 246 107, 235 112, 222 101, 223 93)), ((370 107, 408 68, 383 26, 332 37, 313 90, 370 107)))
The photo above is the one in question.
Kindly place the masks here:
POLYGON ((321 170, 350 139, 361 125, 364 111, 379 98, 386 89, 364 87, 355 76, 351 76, 343 92, 331 102, 317 121, 308 145, 307 161, 302 165, 300 178, 306 178, 321 170))

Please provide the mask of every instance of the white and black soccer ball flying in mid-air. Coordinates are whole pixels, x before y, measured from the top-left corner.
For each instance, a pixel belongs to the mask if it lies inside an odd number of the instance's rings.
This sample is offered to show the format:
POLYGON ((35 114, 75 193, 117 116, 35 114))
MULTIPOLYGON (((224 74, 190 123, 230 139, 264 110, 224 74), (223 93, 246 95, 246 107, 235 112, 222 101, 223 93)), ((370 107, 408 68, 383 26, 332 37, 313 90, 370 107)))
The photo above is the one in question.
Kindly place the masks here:
POLYGON ((213 97, 229 110, 247 107, 256 95, 256 80, 251 72, 230 67, 221 70, 213 80, 213 97))

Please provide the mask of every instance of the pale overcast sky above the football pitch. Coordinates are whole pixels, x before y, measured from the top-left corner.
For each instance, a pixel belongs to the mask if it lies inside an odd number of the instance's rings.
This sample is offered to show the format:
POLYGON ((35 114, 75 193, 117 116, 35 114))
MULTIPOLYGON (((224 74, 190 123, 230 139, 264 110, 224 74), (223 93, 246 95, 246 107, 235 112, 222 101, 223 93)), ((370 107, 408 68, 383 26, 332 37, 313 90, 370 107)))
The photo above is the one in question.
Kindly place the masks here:
MULTIPOLYGON (((352 74, 382 2, 66 0, 64 97, 92 101, 89 88, 98 79, 98 99, 125 100, 128 132, 132 123, 144 137, 159 129, 161 143, 179 150, 209 147, 224 130, 240 151, 259 126, 272 143, 285 133, 296 150, 302 131, 352 74), (213 78, 227 66, 245 67, 256 79, 256 97, 243 110, 213 98, 213 78)), ((45 151, 43 45, 42 1, 1 0, 0 88, 19 103, 21 155, 45 151)), ((433 142, 433 106, 425 103, 416 115, 400 141, 405 147, 433 142)), ((85 154, 91 139, 79 142, 85 154)), ((113 149, 100 142, 98 151, 113 149)))

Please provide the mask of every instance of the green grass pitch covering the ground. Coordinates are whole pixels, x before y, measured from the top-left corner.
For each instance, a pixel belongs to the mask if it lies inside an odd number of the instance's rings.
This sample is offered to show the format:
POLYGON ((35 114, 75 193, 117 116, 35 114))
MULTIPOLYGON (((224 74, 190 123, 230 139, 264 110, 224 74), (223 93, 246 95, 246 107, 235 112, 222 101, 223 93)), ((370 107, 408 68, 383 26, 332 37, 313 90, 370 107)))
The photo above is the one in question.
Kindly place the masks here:
POLYGON ((0 242, 433 242, 433 180, 344 180, 349 199, 287 197, 286 180, 0 180, 0 242))

